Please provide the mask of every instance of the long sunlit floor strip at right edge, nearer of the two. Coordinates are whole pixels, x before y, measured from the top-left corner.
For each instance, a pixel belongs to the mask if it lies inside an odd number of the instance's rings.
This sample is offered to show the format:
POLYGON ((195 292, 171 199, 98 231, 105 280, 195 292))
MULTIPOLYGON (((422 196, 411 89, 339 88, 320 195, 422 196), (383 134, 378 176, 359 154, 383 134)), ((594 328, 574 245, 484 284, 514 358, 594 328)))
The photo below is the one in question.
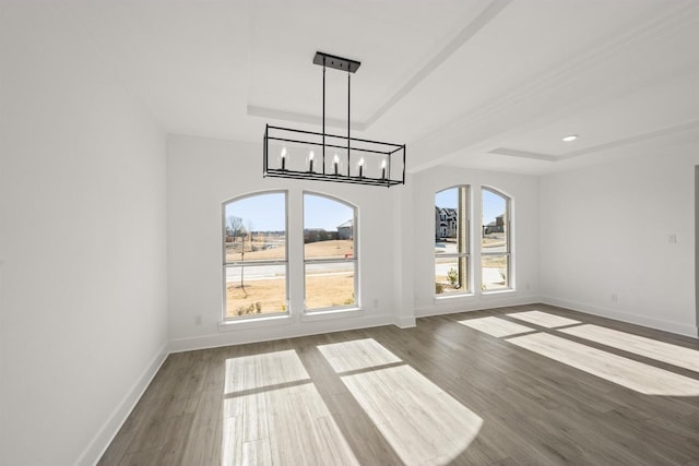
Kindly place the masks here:
POLYGON ((699 381, 558 336, 536 333, 507 342, 645 395, 699 396, 699 381))

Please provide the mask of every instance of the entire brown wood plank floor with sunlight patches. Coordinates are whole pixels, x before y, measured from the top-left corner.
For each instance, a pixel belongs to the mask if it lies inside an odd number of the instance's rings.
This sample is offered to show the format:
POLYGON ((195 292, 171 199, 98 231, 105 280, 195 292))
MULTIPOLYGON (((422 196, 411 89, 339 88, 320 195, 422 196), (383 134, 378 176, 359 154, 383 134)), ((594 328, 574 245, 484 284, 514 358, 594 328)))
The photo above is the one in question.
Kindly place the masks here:
POLYGON ((699 465, 699 342, 544 304, 170 355, 99 465, 699 465))

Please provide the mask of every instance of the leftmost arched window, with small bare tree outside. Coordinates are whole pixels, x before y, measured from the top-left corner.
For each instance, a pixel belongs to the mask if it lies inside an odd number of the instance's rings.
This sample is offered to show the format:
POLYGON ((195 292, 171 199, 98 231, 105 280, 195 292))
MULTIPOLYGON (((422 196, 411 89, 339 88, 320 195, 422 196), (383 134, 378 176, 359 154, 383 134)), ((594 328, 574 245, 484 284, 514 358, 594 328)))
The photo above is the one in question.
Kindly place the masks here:
POLYGON ((286 193, 237 198, 223 205, 225 318, 286 313, 286 193))

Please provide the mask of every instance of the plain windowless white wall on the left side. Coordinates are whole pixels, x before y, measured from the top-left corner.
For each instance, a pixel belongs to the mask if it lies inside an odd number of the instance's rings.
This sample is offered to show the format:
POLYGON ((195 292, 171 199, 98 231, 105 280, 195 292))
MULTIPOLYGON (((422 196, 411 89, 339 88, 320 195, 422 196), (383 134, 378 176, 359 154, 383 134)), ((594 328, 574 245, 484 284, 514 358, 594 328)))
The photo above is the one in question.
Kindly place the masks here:
POLYGON ((60 7, 0 9, 0 464, 93 464, 167 342, 165 138, 60 7))

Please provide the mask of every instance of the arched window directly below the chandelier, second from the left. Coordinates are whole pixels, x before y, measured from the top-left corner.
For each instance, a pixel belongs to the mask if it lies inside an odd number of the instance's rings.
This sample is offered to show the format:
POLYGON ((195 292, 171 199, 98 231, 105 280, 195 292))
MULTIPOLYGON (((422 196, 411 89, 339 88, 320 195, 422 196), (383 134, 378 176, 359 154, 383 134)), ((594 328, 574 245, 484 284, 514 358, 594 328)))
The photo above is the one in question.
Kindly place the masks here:
POLYGON ((304 193, 307 311, 357 307, 357 208, 304 193))

